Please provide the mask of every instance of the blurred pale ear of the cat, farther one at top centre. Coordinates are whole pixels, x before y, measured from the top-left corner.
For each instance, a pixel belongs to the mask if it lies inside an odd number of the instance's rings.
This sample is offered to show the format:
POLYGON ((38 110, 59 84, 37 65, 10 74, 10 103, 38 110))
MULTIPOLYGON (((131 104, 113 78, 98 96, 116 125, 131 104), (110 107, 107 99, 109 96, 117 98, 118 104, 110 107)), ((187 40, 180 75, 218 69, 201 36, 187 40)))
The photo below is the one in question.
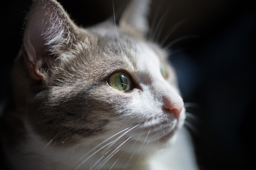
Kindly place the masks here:
POLYGON ((148 20, 150 0, 131 0, 124 13, 121 15, 119 25, 131 35, 145 38, 148 33, 148 20))

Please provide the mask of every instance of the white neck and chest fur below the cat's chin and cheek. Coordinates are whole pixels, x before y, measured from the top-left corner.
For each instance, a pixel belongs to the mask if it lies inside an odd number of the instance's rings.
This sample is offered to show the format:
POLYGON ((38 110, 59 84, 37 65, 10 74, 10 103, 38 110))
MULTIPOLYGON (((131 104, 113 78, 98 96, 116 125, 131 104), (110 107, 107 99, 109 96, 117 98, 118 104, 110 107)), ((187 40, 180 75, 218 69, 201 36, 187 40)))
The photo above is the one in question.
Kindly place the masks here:
MULTIPOLYGON (((8 152, 9 158, 16 162, 13 166, 18 170, 88 170, 88 167, 92 166, 94 162, 99 160, 99 155, 104 155, 104 152, 107 151, 101 150, 101 152, 97 153, 97 157, 95 157, 95 154, 86 162, 83 162, 83 160, 86 160, 92 155, 90 153, 92 148, 88 146, 84 148, 84 144, 77 145, 72 148, 57 148, 42 141, 40 137, 31 130, 29 124, 26 124, 26 127, 29 132, 29 141, 27 143, 20 144, 18 147, 20 148, 19 154, 11 154, 11 152, 8 152), (90 155, 87 155, 88 152, 90 155), (27 164, 27 162, 29 162, 29 164, 27 164)), ((126 163, 130 157, 127 157, 123 162, 119 163, 119 169, 197 170, 195 159, 193 157, 193 147, 191 146, 191 139, 188 132, 186 132, 185 129, 181 129, 177 132, 175 138, 177 140, 175 143, 154 154, 150 154, 150 157, 148 157, 148 153, 141 152, 140 154, 137 153, 136 155, 133 155, 130 166, 127 166, 126 163), (145 166, 146 164, 138 163, 139 160, 148 162, 149 167, 145 166)), ((114 159, 110 159, 110 161, 106 163, 101 170, 109 170, 112 164, 115 163, 120 156, 122 155, 117 152, 114 159)))

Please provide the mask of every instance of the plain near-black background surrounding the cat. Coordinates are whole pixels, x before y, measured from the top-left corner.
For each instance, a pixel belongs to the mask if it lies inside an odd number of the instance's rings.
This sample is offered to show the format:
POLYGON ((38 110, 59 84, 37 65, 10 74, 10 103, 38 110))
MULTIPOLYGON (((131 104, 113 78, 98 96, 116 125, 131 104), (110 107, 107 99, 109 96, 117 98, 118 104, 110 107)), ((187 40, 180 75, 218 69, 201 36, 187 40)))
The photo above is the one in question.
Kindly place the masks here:
MULTIPOLYGON (((60 2, 83 26, 113 14, 112 0, 60 2)), ((1 2, 1 102, 10 88, 9 73, 30 4, 31 0, 1 2)), ((126 1, 114 4, 118 15, 126 1)), ((188 120, 201 170, 249 169, 256 144, 253 0, 153 0, 149 18, 151 28, 159 30, 160 34, 151 32, 158 42, 172 33, 164 46, 173 44, 171 61, 184 102, 193 103, 187 110, 196 120, 188 120)))

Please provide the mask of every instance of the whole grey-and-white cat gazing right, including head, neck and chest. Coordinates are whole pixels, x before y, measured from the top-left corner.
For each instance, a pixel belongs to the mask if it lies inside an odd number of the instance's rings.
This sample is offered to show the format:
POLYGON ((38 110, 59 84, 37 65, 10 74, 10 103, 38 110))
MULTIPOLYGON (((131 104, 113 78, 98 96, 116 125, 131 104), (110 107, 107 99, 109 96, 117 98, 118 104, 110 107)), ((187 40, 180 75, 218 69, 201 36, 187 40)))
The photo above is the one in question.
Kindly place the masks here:
POLYGON ((147 40, 149 3, 82 28, 33 1, 2 112, 11 170, 198 169, 168 52, 147 40))

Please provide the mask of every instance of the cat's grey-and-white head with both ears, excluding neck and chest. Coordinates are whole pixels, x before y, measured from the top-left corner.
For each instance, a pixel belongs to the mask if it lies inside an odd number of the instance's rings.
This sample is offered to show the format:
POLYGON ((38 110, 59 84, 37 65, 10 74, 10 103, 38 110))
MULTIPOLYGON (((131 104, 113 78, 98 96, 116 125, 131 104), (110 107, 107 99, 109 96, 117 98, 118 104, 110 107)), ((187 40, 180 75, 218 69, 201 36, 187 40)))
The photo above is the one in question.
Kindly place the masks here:
POLYGON ((82 28, 55 0, 33 2, 14 80, 31 132, 60 147, 171 141, 185 109, 168 53, 146 38, 147 11, 133 0, 119 23, 82 28))

